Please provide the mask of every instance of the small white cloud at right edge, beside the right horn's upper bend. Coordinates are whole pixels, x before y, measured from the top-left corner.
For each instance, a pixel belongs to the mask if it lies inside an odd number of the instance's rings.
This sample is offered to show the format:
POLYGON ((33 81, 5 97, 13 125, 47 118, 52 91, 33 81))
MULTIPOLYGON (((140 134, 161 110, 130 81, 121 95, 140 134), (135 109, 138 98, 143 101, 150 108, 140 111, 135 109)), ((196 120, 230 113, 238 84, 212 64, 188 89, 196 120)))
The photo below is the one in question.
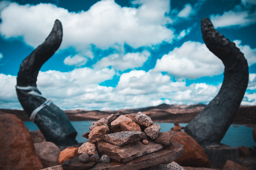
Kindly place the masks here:
POLYGON ((236 47, 244 54, 244 57, 247 59, 248 65, 256 63, 256 48, 251 49, 249 45, 241 45, 241 40, 234 40, 236 47))

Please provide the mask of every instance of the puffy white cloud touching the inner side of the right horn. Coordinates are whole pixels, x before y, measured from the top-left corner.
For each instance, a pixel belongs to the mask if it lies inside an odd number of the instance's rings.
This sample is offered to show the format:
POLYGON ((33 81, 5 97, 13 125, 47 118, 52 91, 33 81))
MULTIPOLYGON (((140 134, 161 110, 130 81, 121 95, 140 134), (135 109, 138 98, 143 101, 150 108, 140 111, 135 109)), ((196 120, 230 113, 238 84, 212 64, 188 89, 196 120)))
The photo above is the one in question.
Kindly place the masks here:
POLYGON ((175 77, 196 79, 219 75, 224 71, 224 65, 205 44, 188 41, 158 59, 153 70, 168 72, 175 77))

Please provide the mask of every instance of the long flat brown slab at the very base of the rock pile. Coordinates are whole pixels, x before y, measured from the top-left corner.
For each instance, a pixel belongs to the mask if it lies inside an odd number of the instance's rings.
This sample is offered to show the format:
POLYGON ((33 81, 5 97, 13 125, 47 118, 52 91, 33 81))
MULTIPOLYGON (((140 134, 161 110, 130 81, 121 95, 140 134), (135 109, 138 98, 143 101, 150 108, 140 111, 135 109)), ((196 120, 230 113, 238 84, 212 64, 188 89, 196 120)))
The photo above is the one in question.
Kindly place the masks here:
MULTIPOLYGON (((139 158, 135 158, 132 161, 124 164, 113 162, 113 161, 109 163, 101 163, 97 161, 97 163, 92 168, 88 168, 88 170, 107 170, 107 169, 108 170, 120 170, 120 169, 137 170, 137 169, 142 169, 142 168, 146 168, 146 167, 150 167, 158 164, 171 163, 175 159, 182 156, 183 153, 184 153, 184 145, 180 143, 173 143, 173 146, 168 146, 157 152, 146 154, 139 158)), ((76 161, 79 161, 79 160, 76 159, 76 161)), ((81 163, 81 164, 86 164, 86 163, 81 163)))

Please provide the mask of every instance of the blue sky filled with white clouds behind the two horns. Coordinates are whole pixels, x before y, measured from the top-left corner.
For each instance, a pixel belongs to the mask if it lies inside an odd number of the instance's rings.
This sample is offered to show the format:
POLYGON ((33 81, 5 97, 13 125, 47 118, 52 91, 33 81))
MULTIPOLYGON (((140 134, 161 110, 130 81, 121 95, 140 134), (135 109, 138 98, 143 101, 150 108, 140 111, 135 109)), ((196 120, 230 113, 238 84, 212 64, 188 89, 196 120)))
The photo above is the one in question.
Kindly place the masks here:
POLYGON ((62 43, 36 83, 59 108, 208 104, 224 65, 202 40, 203 18, 244 54, 249 83, 241 104, 256 105, 255 0, 14 0, 0 1, 0 108, 22 109, 19 66, 56 19, 62 43))

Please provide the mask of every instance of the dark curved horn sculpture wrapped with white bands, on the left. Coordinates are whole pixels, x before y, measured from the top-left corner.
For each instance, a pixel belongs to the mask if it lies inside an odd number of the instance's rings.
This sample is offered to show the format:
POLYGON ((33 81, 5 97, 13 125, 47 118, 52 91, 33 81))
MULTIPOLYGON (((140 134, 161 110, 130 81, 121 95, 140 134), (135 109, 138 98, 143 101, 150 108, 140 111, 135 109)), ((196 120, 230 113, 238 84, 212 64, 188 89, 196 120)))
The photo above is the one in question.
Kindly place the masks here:
POLYGON ((47 141, 58 146, 77 144, 77 132, 67 115, 51 101, 43 97, 36 87, 41 66, 55 53, 62 41, 62 25, 55 21, 45 42, 23 60, 17 76, 16 92, 20 104, 30 119, 36 123, 47 141))

